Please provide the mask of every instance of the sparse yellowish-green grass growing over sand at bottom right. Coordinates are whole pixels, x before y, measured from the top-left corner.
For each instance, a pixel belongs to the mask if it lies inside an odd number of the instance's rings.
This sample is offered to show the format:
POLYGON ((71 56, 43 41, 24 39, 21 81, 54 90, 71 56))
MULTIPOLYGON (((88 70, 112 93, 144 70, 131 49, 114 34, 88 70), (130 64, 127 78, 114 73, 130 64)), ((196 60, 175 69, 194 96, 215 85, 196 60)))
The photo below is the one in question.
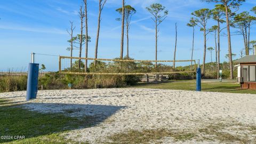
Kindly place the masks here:
POLYGON ((161 140, 164 138, 172 138, 172 140, 176 142, 193 139, 197 142, 255 143, 255 132, 256 129, 254 125, 246 125, 237 121, 228 123, 213 121, 205 126, 197 127, 197 129, 194 130, 130 130, 110 135, 108 139, 111 141, 109 143, 162 143, 161 140))

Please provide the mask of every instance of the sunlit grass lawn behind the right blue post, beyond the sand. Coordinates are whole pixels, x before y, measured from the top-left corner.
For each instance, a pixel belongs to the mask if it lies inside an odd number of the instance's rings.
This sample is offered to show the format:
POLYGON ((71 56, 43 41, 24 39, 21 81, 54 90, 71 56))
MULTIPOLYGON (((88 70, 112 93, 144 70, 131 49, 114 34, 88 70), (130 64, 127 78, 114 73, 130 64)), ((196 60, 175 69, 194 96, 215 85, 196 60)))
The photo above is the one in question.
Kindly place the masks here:
MULTIPOLYGON (((196 90, 195 81, 168 81, 159 84, 139 83, 139 88, 150 89, 170 89, 170 90, 196 90)), ((251 93, 256 94, 256 90, 241 90, 240 84, 220 83, 220 82, 202 82, 202 91, 207 92, 228 92, 228 93, 251 93)))

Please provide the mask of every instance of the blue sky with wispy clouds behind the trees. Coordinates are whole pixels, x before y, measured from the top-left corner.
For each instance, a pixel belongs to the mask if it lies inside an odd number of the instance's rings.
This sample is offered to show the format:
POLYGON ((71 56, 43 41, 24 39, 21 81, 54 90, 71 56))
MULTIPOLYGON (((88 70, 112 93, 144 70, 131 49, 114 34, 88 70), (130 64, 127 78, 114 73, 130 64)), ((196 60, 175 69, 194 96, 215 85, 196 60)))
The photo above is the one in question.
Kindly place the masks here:
MULTIPOLYGON (((97 31, 98 1, 88 0, 89 4, 89 57, 94 57, 95 34, 97 31)), ((155 41, 154 23, 145 7, 152 3, 161 3, 169 10, 166 20, 159 26, 158 59, 172 60, 175 42, 175 22, 178 23, 177 59, 187 60, 191 57, 192 29, 186 24, 191 12, 209 8, 200 0, 127 0, 126 2, 137 10, 132 18, 130 29, 130 57, 135 59, 154 60, 155 41)), ((45 53, 53 55, 69 55, 69 35, 66 29, 70 27, 69 20, 77 26, 75 34, 79 33, 79 18, 77 11, 82 0, 0 0, 0 71, 12 69, 20 71, 27 69, 30 53, 45 53)), ((254 0, 247 0, 241 6, 240 12, 249 11, 256 5, 254 0)), ((119 14, 115 11, 121 6, 121 0, 107 0, 102 12, 99 58, 119 57, 121 41, 121 22, 116 21, 119 14)), ((216 25, 209 22, 209 27, 216 25)), ((256 39, 255 26, 251 30, 251 39, 256 39)), ((235 31, 235 29, 231 29, 235 31)), ((244 47, 241 35, 231 37, 233 53, 238 58, 239 51, 244 47)), ((209 35, 207 47, 214 47, 213 35, 209 35)), ((124 45, 126 47, 126 45, 124 45)), ((78 51, 74 51, 75 56, 78 51)), ((226 60, 228 53, 227 37, 221 37, 221 61, 226 60)), ((84 54, 84 50, 83 50, 84 54)), ((124 53, 125 54, 125 53, 124 53)), ((196 28, 195 59, 203 59, 203 33, 196 28)), ((210 52, 207 52, 206 62, 209 62, 210 52)), ((58 69, 58 57, 36 55, 36 62, 44 63, 47 70, 58 69)))

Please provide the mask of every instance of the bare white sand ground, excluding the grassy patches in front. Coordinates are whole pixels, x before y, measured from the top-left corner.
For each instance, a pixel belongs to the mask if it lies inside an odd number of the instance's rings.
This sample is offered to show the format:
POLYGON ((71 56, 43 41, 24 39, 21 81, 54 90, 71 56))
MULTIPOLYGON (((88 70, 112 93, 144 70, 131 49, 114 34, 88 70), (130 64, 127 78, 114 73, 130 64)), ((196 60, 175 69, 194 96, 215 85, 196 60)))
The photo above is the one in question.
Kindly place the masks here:
MULTIPOLYGON (((25 102, 24 91, 0 93, 0 97, 24 103, 23 106, 26 108, 42 113, 97 117, 97 125, 73 130, 66 136, 76 141, 91 143, 107 141, 109 135, 129 130, 163 128, 195 131, 219 122, 256 125, 256 95, 253 94, 158 89, 97 89, 38 91, 37 99, 29 102, 25 102)), ((240 134, 230 127, 225 131, 240 134)), ((245 135, 247 139, 256 141, 255 133, 245 132, 245 135)), ((162 142, 174 141, 172 138, 166 138, 162 142)), ((178 143, 183 142, 178 141, 178 143)), ((194 143, 195 140, 186 142, 194 143)), ((218 140, 203 141, 203 143, 214 142, 218 143, 218 140)))

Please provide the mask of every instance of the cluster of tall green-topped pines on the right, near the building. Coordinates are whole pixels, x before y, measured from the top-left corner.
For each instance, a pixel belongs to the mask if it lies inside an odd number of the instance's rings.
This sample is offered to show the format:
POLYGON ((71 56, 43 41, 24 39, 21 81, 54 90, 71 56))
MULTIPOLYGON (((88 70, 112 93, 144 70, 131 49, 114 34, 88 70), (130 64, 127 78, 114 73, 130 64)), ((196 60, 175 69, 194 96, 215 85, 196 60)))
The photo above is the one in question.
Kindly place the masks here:
MULTIPOLYGON (((250 30, 251 26, 255 24, 256 18, 250 15, 249 12, 244 11, 241 13, 237 13, 239 7, 242 5, 245 0, 201 0, 207 3, 216 3, 214 9, 200 9, 197 10, 191 15, 193 17, 190 19, 188 26, 193 28, 193 49, 192 49, 192 57, 193 58, 193 50, 194 50, 194 30, 197 26, 201 31, 203 31, 204 36, 204 55, 203 55, 203 67, 202 67, 202 74, 205 74, 205 57, 206 57, 206 50, 211 52, 214 50, 213 47, 206 47, 207 42, 207 35, 212 34, 214 35, 214 42, 215 42, 215 70, 217 73, 217 78, 219 78, 219 70, 220 70, 220 36, 222 30, 227 31, 228 39, 228 54, 226 58, 228 58, 229 62, 229 70, 230 70, 230 79, 233 79, 233 57, 234 53, 232 53, 231 47, 231 33, 230 27, 236 29, 235 35, 242 35, 244 39, 244 48, 246 55, 250 54, 250 50, 252 50, 251 46, 255 45, 255 41, 250 41, 250 30), (209 27, 208 22, 209 20, 214 20, 216 25, 209 27), (226 26, 221 25, 222 23, 226 23, 226 26)), ((256 6, 251 9, 252 12, 256 14, 256 6)), ((232 34, 234 35, 234 34, 232 34)), ((243 57, 243 50, 241 50, 243 57)), ((253 52, 254 53, 254 52, 253 52)), ((212 58, 211 58, 212 61, 212 58)))

